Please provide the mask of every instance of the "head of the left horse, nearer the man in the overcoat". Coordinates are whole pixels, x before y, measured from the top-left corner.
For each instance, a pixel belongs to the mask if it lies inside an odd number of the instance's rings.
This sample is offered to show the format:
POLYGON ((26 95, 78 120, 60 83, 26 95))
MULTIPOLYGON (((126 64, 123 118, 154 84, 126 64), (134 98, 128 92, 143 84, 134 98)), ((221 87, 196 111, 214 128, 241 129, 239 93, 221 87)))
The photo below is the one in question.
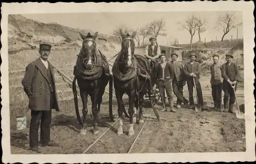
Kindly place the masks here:
POLYGON ((95 64, 95 58, 96 58, 95 39, 98 36, 98 32, 96 32, 94 36, 92 36, 91 33, 88 33, 87 36, 84 36, 81 33, 79 34, 83 39, 82 50, 81 50, 83 65, 86 69, 92 69, 93 65, 95 64))

